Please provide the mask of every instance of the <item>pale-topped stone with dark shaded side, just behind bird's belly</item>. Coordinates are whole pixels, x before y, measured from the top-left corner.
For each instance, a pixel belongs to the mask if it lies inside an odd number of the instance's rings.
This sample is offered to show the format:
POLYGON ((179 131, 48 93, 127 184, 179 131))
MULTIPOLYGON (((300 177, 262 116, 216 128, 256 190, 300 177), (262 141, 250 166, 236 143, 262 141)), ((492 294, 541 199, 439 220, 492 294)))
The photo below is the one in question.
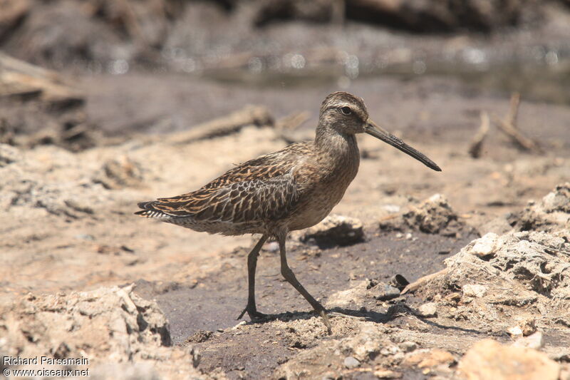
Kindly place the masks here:
POLYGON ((363 224, 354 217, 328 215, 322 222, 296 235, 301 242, 313 240, 318 247, 353 245, 364 240, 363 224))

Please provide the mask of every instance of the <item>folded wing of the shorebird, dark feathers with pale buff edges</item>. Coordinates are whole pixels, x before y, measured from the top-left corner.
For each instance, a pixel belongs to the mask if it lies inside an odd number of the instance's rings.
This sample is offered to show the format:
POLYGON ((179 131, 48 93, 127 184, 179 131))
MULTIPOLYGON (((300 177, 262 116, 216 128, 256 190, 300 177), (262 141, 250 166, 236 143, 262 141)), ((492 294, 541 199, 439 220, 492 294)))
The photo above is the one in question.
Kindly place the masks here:
MULTIPOLYGON (((282 151, 281 151, 282 152, 282 151)), ((261 222, 285 217, 299 200, 295 152, 271 153, 232 168, 199 190, 139 204, 147 217, 261 222)))

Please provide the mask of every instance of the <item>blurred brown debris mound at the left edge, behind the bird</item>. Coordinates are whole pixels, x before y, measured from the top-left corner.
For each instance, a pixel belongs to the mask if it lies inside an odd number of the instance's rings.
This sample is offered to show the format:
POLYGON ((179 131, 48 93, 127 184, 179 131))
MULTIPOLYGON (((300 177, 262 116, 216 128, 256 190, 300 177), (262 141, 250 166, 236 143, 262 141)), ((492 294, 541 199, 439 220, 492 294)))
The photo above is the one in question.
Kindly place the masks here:
POLYGON ((84 103, 83 93, 58 73, 0 53, 1 142, 93 147, 100 134, 88 123, 84 103))

